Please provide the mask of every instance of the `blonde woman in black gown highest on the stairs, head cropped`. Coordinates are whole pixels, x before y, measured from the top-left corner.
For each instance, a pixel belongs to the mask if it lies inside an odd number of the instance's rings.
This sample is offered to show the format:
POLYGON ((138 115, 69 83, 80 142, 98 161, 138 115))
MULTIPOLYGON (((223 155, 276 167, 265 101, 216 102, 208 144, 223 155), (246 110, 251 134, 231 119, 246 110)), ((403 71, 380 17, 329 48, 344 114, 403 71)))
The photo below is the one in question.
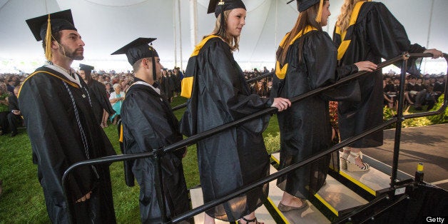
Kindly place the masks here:
MULTIPOLYGON (((380 2, 345 0, 337 19, 333 41, 337 47, 338 65, 349 65, 356 61, 380 63, 381 58, 390 59, 404 51, 430 53, 433 58, 442 56, 441 51, 425 49, 411 44, 402 24, 380 2)), ((409 73, 419 75, 415 59, 408 61, 409 73)), ((357 78, 361 89, 361 100, 341 102, 338 106, 341 140, 356 136, 362 131, 382 123, 382 71, 375 71, 357 78)), ((349 171, 367 171, 369 164, 362 162, 360 148, 382 146, 382 130, 361 138, 341 155, 342 168, 349 171), (349 162, 349 163, 347 163, 349 162)))

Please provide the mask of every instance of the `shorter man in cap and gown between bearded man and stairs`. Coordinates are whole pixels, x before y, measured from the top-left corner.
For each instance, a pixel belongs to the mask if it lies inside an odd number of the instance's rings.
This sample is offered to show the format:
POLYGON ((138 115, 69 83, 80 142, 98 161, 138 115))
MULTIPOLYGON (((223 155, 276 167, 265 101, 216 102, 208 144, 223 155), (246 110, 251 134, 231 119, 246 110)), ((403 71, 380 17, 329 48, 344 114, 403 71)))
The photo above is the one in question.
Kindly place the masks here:
MULTIPOLYGON (((161 95, 161 90, 155 85, 161 78, 163 67, 156 49, 148 46, 153 40, 155 39, 139 38, 113 53, 126 54, 136 73, 121 108, 123 153, 151 152, 183 138, 179 132, 178 120, 166 97, 161 95)), ((168 217, 180 215, 190 209, 182 166, 185 153, 183 148, 161 158, 168 217)), ((131 169, 140 185, 141 222, 161 223, 154 158, 137 159, 133 161, 131 169)))

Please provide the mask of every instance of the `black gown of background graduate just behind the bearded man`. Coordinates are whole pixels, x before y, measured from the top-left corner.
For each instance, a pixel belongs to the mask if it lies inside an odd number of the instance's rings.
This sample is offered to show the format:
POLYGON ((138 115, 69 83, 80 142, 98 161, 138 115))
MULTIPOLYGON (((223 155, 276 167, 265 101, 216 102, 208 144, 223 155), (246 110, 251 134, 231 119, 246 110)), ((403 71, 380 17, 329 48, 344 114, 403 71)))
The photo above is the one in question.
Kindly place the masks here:
POLYGON ((106 110, 109 115, 115 113, 111 101, 107 97, 106 86, 104 84, 92 79, 91 83, 88 83, 88 91, 91 93, 93 113, 95 113, 98 123, 101 123, 103 120, 103 110, 106 110))

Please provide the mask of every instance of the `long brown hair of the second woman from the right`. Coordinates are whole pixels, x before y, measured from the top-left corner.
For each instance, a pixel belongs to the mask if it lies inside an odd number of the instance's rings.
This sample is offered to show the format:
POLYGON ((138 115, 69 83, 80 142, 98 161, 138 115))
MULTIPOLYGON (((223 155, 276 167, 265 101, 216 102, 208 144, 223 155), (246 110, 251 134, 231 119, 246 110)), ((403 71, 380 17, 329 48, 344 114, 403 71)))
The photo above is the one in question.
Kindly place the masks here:
MULTIPOLYGON (((325 0, 327 1, 327 0, 325 0)), ((319 10, 319 4, 315 4, 314 6, 311 6, 305 11, 300 12, 299 16, 297 16, 297 21, 295 21, 294 27, 292 27, 292 30, 290 31, 289 36, 287 36, 287 39, 283 41, 282 45, 278 47, 277 50, 277 61, 280 62, 280 65, 284 65, 287 50, 290 48, 290 43, 292 39, 299 34, 300 31, 304 30, 307 26, 312 26, 315 29, 322 31, 322 26, 320 23, 317 23, 316 15, 317 11, 319 10)), ((303 39, 299 39, 299 62, 302 63, 302 51, 303 51, 303 39)))

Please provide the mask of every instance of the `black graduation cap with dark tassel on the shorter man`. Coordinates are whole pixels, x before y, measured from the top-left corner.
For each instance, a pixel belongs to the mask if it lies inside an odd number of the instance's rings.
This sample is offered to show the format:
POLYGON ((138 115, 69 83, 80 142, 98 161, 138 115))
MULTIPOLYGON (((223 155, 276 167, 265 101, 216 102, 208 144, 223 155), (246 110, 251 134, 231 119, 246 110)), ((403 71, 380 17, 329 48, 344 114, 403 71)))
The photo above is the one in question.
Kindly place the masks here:
MULTIPOLYGON (((157 74, 156 74, 156 58, 158 57, 156 49, 153 48, 153 44, 151 42, 155 41, 156 38, 138 38, 132 41, 129 44, 126 44, 126 46, 123 46, 121 49, 118 49, 117 51, 113 52, 111 55, 116 54, 126 54, 126 57, 128 57, 129 63, 131 63, 131 66, 133 66, 136 61, 140 60, 141 58, 152 58, 153 61, 153 81, 156 83, 157 81, 157 74), (148 44, 151 44, 151 46, 148 46, 148 44)), ((157 84, 155 84, 155 87, 157 84)))

